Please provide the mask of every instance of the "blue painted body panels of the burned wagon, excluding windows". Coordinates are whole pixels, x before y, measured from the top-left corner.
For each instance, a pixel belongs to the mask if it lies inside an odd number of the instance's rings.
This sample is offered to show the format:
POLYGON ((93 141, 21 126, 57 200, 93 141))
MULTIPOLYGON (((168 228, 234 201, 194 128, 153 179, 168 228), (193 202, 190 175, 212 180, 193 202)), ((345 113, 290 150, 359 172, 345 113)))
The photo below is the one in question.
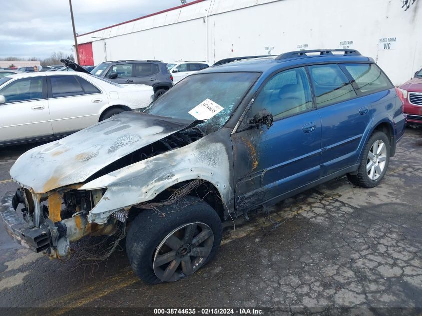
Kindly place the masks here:
POLYGON ((239 105, 233 119, 233 181, 236 208, 249 210, 273 204, 315 185, 357 172, 366 142, 375 129, 390 135, 391 153, 403 136, 406 118, 393 85, 390 89, 276 120, 269 129, 244 128, 260 89, 275 73, 316 64, 375 63, 357 55, 301 56, 275 60, 240 60, 202 70, 253 71, 261 75, 239 105), (243 113, 240 115, 239 113, 243 113), (235 126, 236 125, 236 126, 235 126), (304 132, 308 127, 312 132, 304 132), (387 132, 388 130, 388 132, 387 132), (245 158, 247 157, 247 158, 245 158))

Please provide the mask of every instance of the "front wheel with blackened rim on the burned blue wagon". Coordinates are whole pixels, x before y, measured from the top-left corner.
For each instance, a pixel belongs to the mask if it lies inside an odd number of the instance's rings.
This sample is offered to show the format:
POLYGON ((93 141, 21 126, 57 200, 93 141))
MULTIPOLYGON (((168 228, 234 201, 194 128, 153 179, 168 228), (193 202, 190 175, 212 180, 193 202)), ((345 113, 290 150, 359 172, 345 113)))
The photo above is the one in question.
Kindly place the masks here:
POLYGON ((174 282, 196 272, 215 255, 221 234, 217 212, 204 201, 187 197, 156 211, 141 211, 130 224, 126 253, 141 280, 174 282))

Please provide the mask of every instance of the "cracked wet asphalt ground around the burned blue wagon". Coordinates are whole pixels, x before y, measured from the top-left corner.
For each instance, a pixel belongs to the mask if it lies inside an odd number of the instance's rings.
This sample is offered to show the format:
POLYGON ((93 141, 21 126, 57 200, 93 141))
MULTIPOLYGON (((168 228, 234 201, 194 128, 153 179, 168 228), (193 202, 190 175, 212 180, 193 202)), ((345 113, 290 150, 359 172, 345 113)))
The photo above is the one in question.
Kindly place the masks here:
MULTIPOLYGON (((0 150, 0 195, 16 188, 7 181, 8 169, 32 146, 0 150)), ((187 279, 157 286, 134 276, 123 249, 102 262, 50 261, 14 244, 1 225, 1 311, 270 307, 293 315, 295 308, 352 307, 351 315, 412 315, 422 308, 421 185, 422 128, 407 128, 377 188, 341 177, 266 216, 237 219, 235 229, 226 223, 212 262, 187 279)))

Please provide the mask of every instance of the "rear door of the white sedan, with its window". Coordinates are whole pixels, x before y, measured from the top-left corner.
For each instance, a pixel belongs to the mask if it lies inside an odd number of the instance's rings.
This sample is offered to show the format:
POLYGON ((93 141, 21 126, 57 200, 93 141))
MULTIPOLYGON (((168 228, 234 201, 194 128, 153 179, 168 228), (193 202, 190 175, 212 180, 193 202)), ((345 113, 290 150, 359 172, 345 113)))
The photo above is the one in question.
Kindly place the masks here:
POLYGON ((108 103, 105 93, 78 75, 47 78, 54 135, 69 134, 98 122, 100 109, 108 103))

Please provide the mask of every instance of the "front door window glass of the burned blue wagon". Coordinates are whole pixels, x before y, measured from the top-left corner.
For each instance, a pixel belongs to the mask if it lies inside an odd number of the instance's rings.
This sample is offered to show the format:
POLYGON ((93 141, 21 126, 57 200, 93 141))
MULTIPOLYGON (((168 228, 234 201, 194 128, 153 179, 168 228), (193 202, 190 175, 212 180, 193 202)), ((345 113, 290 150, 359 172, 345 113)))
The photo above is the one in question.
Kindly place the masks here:
POLYGON ((252 114, 266 109, 274 120, 312 108, 312 94, 306 70, 289 69, 275 74, 252 104, 252 114))

